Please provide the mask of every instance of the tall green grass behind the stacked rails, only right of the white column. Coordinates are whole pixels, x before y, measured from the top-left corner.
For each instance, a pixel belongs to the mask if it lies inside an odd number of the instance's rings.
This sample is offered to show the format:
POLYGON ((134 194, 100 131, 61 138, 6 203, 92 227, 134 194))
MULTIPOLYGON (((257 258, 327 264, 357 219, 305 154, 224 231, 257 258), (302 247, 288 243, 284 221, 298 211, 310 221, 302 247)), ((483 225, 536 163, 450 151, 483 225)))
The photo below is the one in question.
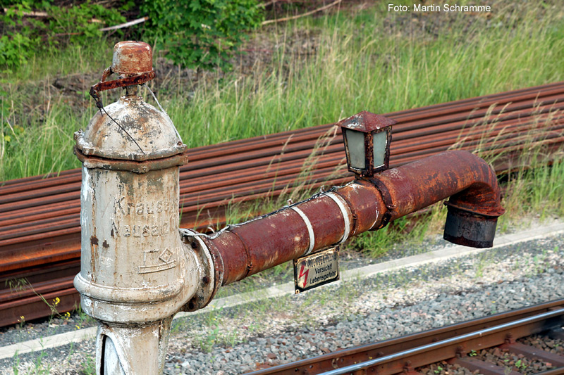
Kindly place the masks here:
POLYGON ((190 146, 202 139, 212 144, 334 122, 364 109, 386 113, 563 77, 558 60, 564 27, 554 20, 552 27, 541 26, 549 17, 537 20, 534 11, 526 12, 518 32, 516 20, 465 30, 468 20, 460 15, 460 23, 449 25, 451 31, 445 25, 436 39, 417 37, 417 30, 386 32, 386 15, 374 11, 325 18, 321 25, 286 25, 283 35, 300 27, 318 30, 317 52, 296 56, 282 40, 271 70, 257 69, 252 79, 212 92, 204 87, 192 101, 173 98, 168 107, 180 134, 190 146))

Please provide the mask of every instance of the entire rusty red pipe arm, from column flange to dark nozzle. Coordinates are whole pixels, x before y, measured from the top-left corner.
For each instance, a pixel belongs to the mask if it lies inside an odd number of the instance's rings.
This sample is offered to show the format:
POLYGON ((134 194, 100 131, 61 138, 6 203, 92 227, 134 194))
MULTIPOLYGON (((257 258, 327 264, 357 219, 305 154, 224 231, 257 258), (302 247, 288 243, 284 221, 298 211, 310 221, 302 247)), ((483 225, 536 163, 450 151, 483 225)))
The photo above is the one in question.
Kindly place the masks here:
POLYGON ((226 285, 349 236, 379 229, 449 196, 445 238, 466 246, 491 246, 497 217, 503 214, 496 174, 467 151, 440 153, 372 179, 357 179, 273 214, 227 227, 205 241, 219 253, 224 268, 220 279, 226 285))

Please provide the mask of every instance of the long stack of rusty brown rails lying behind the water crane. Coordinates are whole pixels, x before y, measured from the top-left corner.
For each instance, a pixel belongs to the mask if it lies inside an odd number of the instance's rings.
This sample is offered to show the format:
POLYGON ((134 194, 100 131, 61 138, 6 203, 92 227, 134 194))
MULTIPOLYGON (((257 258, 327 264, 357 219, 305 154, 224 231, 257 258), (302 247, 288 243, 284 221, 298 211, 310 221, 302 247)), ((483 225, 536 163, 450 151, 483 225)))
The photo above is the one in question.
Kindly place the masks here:
MULTIPOLYGON (((498 173, 516 167, 532 144, 547 153, 564 144, 564 82, 385 114, 393 127, 391 167, 460 148, 501 156, 498 173)), ((359 110, 370 108, 359 108, 359 110)), ((180 167, 183 227, 226 221, 228 205, 294 189, 344 184, 340 129, 321 125, 192 148, 180 167), (313 156, 312 156, 313 155, 313 156)), ((78 303, 80 169, 0 186, 0 325, 45 317, 78 303), (22 282, 22 280, 24 280, 22 282), (33 287, 31 288, 31 284, 33 287), (42 295, 42 298, 39 298, 42 295)))

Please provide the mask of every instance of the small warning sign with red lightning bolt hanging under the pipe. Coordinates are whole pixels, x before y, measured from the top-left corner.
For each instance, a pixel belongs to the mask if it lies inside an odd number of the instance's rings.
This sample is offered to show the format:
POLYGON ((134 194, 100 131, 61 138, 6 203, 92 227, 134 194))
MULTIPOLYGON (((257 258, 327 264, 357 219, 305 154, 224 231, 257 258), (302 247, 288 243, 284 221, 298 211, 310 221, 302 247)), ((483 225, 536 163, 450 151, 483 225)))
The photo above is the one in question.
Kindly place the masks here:
POLYGON ((328 248, 294 260, 295 293, 307 291, 338 279, 338 248, 328 248))

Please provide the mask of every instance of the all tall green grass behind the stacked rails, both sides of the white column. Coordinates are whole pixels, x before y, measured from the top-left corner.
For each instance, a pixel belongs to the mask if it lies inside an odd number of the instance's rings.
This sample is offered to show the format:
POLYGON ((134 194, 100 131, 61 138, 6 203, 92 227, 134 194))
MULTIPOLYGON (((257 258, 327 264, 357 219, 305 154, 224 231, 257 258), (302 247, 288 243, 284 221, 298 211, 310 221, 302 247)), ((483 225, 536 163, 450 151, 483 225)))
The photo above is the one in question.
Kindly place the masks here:
MULTIPOLYGON (((360 110, 387 113, 563 80, 560 9, 498 4, 491 20, 459 13, 429 22, 429 31, 381 4, 276 25, 251 36, 269 39, 271 61, 259 61, 248 75, 205 73, 190 97, 180 87, 163 88, 161 103, 194 147, 334 122, 360 110), (308 53, 292 47, 303 34, 315 39, 308 53)), ((88 109, 54 98, 37 114, 26 97, 47 96, 54 75, 101 73, 111 61, 109 44, 37 56, 1 78, 1 132, 9 141, 0 140, 0 180, 78 166, 71 134, 87 125, 93 103, 80 92, 88 109), (39 80, 37 89, 20 91, 26 80, 39 80)))

